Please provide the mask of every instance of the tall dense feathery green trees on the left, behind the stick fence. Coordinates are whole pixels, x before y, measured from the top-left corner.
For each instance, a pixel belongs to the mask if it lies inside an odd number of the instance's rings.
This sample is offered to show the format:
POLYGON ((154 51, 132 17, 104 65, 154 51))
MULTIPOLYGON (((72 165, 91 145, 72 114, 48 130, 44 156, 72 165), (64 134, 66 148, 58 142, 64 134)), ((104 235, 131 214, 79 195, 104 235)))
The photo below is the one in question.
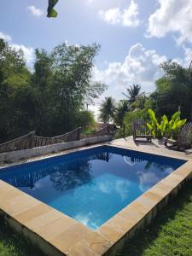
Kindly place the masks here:
POLYGON ((34 68, 26 67, 22 51, 0 40, 0 143, 29 131, 52 137, 94 125, 84 109, 106 89, 91 81, 97 44, 61 44, 50 53, 36 50, 34 68))

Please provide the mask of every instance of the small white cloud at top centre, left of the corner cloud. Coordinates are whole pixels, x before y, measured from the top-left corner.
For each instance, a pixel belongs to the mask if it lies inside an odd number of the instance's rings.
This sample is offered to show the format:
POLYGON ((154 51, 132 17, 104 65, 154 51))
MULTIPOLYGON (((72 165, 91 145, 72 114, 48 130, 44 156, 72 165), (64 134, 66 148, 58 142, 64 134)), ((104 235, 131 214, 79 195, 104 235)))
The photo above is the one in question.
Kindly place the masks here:
POLYGON ((100 10, 99 15, 102 20, 110 24, 120 24, 122 26, 138 26, 138 4, 131 0, 131 4, 127 9, 108 9, 107 11, 100 10))

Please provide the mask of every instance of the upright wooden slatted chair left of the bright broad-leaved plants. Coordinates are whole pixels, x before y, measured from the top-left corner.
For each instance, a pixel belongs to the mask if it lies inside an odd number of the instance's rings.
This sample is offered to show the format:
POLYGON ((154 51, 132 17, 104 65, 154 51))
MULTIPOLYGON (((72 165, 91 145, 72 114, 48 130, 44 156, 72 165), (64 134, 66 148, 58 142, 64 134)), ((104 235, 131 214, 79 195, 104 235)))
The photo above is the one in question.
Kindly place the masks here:
POLYGON ((137 138, 146 138, 148 142, 151 143, 153 135, 151 131, 148 131, 146 122, 144 120, 133 121, 133 140, 136 141, 137 138))

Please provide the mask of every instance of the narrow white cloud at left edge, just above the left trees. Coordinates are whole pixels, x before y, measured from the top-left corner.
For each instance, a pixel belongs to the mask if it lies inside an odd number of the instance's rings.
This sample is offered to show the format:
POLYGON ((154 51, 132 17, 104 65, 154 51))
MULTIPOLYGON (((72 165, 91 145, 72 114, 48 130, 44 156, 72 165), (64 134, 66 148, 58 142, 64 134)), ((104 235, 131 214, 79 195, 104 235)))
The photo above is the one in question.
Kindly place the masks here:
POLYGON ((32 65, 32 61, 34 60, 34 49, 32 47, 26 47, 23 44, 13 43, 12 38, 9 35, 4 34, 3 32, 0 32, 0 38, 3 38, 5 41, 9 41, 9 45, 12 48, 14 48, 16 50, 21 49, 24 53, 24 57, 26 59, 26 64, 29 66, 32 65))

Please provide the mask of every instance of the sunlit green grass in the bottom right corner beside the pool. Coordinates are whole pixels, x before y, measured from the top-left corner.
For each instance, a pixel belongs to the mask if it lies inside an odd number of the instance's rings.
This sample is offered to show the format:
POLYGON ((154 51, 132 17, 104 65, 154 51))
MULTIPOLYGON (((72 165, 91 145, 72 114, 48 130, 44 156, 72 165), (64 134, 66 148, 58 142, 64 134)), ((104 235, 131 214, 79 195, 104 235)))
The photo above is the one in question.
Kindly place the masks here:
POLYGON ((192 256, 192 181, 119 255, 192 256))

